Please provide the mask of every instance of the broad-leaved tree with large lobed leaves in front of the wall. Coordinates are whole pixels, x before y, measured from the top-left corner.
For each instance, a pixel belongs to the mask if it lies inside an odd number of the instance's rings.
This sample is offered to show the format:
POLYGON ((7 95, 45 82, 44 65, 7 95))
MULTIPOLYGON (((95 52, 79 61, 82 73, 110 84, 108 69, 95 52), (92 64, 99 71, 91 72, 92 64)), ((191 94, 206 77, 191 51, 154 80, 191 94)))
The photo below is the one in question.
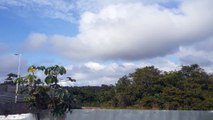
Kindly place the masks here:
MULTIPOLYGON (((66 74, 66 69, 63 66, 30 66, 28 75, 16 79, 17 83, 24 84, 24 88, 19 94, 25 94, 26 102, 29 108, 37 114, 41 110, 50 110, 54 116, 64 115, 65 112, 71 111, 75 107, 75 100, 67 89, 59 85, 60 79, 58 76, 66 74), (36 76, 37 72, 43 72, 44 80, 36 76)), ((68 80, 75 81, 71 77, 68 80)))

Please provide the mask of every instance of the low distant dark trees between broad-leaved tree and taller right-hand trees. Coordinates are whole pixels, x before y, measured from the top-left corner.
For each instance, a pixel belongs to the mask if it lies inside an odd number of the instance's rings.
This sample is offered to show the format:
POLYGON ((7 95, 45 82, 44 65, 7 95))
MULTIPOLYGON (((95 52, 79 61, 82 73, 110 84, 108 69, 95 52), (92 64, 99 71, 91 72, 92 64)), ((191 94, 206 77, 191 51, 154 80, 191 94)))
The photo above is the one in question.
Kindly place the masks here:
POLYGON ((88 107, 109 107, 115 94, 114 86, 82 86, 67 88, 78 100, 78 104, 88 107))

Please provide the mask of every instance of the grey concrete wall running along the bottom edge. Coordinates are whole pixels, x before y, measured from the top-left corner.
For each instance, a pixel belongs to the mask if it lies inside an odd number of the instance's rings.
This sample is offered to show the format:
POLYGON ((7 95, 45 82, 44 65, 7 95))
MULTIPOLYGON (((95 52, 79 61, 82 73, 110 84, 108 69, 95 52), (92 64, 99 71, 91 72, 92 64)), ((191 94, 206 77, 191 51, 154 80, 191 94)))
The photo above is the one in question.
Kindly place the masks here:
MULTIPOLYGON (((32 114, 0 116, 0 120, 36 120, 32 114)), ((44 113, 42 120, 54 120, 44 113), (46 115, 46 116, 45 116, 46 115)), ((159 110, 73 110, 65 120, 213 120, 211 111, 159 111, 159 110)))

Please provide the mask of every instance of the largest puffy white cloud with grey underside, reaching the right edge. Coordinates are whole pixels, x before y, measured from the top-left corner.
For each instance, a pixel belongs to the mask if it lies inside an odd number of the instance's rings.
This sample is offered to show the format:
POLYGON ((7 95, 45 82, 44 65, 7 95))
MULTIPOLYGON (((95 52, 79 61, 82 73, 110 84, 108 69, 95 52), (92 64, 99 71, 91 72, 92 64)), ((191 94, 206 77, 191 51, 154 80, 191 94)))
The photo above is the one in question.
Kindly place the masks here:
POLYGON ((53 49, 70 59, 139 60, 172 54, 180 45, 212 37, 212 1, 185 1, 178 9, 128 3, 84 12, 76 37, 52 37, 53 49))

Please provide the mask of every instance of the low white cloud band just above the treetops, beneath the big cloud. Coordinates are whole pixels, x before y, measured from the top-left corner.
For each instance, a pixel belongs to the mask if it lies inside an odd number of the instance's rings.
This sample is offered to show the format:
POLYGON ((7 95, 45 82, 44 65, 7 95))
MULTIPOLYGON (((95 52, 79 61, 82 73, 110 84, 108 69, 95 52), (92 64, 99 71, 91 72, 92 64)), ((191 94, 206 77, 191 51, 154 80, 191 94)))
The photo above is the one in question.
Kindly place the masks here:
POLYGON ((166 60, 164 58, 158 58, 157 62, 152 60, 140 61, 138 63, 124 62, 124 63, 98 63, 98 62, 86 62, 80 65, 67 66, 68 76, 76 79, 77 82, 73 85, 78 86, 96 86, 101 84, 115 84, 119 78, 124 75, 128 75, 135 71, 136 68, 145 66, 152 66, 164 71, 171 71, 178 69, 178 65, 166 60), (103 69, 102 69, 103 68, 103 69))

